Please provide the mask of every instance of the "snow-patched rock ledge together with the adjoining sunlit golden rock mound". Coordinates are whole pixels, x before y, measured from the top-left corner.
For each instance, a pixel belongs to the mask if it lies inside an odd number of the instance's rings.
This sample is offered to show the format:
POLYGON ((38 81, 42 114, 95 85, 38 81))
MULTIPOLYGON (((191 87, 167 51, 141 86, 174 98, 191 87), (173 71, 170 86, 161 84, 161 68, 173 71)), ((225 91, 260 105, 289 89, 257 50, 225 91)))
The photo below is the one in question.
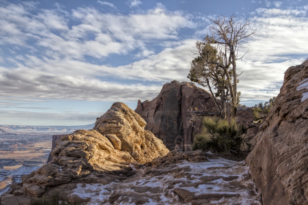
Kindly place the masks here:
POLYGON ((261 204, 245 162, 169 150, 116 102, 92 130, 55 141, 49 163, 22 177, 1 205, 29 204, 53 188, 88 204, 261 204))

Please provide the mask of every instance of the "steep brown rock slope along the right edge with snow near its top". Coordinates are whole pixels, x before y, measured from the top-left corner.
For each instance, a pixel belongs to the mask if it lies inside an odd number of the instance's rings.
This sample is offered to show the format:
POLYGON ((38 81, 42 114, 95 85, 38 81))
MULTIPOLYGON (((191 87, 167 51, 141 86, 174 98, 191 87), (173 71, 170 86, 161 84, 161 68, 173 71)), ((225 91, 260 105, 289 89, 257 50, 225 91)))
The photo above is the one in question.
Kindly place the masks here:
POLYGON ((308 204, 308 60, 286 70, 247 164, 264 205, 308 204))

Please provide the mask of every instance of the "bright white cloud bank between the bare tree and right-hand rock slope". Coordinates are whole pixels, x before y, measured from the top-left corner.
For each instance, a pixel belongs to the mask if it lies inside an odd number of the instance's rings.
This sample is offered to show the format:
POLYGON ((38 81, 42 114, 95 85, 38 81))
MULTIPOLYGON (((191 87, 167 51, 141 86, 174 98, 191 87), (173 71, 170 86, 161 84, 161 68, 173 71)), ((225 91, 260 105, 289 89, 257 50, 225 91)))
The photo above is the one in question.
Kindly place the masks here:
POLYGON ((257 9, 252 18, 258 35, 237 62, 243 99, 269 99, 279 93, 285 70, 308 55, 308 18, 301 10, 257 9))

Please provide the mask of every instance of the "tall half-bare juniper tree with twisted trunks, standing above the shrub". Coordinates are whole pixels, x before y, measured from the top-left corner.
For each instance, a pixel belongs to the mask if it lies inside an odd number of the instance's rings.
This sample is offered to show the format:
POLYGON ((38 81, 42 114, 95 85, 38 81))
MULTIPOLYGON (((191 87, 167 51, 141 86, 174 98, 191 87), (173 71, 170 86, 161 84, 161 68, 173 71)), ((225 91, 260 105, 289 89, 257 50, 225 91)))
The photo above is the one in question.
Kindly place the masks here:
MULTIPOLYGON (((238 50, 249 46, 248 39, 256 35, 257 30, 251 27, 250 19, 237 20, 234 14, 230 18, 219 16, 211 19, 211 22, 210 34, 195 44, 197 52, 193 53, 194 58, 190 62, 191 68, 187 77, 192 82, 209 88, 214 97, 217 112, 203 115, 217 114, 226 119, 228 115, 236 115, 239 102, 236 61, 242 59, 248 51, 239 57, 238 50), (231 106, 229 113, 228 104, 231 106)), ((199 112, 199 115, 202 114, 199 112)))

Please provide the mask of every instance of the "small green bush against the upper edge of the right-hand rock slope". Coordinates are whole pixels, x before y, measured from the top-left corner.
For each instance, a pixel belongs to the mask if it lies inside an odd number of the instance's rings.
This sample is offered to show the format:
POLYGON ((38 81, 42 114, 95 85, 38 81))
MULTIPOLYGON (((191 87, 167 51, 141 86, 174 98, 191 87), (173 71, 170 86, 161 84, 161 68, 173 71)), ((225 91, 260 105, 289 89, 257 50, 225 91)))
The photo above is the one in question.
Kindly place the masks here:
POLYGON ((269 101, 266 101, 264 104, 260 102, 255 104, 252 108, 253 110, 253 120, 257 123, 262 123, 262 119, 265 118, 274 107, 276 97, 270 98, 269 101))

